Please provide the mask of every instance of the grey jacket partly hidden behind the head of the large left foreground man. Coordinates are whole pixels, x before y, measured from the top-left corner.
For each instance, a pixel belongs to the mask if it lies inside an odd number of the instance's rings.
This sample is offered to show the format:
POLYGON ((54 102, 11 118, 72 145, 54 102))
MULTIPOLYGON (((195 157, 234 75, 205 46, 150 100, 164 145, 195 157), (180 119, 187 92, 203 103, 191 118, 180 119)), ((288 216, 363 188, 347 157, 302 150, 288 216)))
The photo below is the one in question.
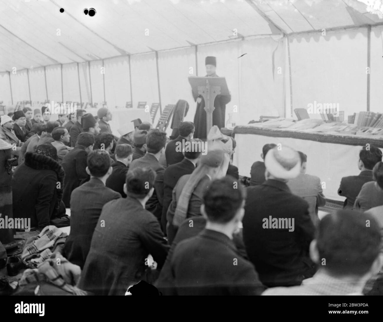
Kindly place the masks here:
POLYGON ((161 166, 153 154, 146 153, 142 158, 134 160, 129 171, 135 168, 151 168, 157 176, 154 182, 154 192, 152 197, 146 203, 146 210, 150 211, 159 221, 161 221, 162 204, 164 200, 164 172, 165 169, 161 166))

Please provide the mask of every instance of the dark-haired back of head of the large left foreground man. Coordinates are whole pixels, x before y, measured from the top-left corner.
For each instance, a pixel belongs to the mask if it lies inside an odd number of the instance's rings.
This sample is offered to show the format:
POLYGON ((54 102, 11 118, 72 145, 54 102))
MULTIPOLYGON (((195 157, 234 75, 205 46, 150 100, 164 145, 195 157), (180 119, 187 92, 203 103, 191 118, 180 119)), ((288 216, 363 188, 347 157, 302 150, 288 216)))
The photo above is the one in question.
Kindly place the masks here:
POLYGON ((126 175, 126 195, 144 199, 154 186, 155 172, 150 168, 134 168, 126 175))

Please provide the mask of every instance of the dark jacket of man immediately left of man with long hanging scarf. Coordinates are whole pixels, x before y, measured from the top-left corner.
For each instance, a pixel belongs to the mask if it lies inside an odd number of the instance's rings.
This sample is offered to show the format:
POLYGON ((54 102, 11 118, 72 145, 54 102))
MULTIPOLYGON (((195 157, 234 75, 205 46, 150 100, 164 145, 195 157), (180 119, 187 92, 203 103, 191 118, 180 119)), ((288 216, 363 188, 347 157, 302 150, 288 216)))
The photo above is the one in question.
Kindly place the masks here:
POLYGON ((184 158, 181 162, 170 165, 165 169, 164 172, 164 204, 162 207, 162 217, 161 224, 162 230, 166 231, 166 213, 169 208, 170 203, 172 202, 172 193, 175 185, 177 184, 178 179, 184 176, 185 174, 191 174, 195 169, 195 165, 189 161, 187 158, 184 158))

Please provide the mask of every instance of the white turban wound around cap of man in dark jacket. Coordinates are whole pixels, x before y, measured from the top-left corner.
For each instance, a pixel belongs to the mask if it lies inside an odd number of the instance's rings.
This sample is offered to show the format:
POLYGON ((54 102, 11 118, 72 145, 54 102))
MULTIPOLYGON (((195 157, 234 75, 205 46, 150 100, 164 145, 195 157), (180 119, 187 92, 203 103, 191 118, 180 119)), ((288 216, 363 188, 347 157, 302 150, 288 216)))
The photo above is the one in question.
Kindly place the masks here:
POLYGON ((301 172, 301 159, 298 152, 289 146, 282 146, 282 150, 275 147, 267 152, 265 167, 273 177, 294 179, 301 172))

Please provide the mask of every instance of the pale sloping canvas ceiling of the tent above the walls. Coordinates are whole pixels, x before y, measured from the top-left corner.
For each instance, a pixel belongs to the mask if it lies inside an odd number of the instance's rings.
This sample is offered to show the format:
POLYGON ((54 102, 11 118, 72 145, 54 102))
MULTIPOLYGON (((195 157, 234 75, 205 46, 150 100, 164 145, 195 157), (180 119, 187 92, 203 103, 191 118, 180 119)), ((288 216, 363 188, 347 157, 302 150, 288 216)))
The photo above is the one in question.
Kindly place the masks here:
POLYGON ((357 0, 0 0, 0 71, 228 41, 234 29, 246 37, 377 23, 357 0), (84 15, 91 7, 97 14, 84 15))

